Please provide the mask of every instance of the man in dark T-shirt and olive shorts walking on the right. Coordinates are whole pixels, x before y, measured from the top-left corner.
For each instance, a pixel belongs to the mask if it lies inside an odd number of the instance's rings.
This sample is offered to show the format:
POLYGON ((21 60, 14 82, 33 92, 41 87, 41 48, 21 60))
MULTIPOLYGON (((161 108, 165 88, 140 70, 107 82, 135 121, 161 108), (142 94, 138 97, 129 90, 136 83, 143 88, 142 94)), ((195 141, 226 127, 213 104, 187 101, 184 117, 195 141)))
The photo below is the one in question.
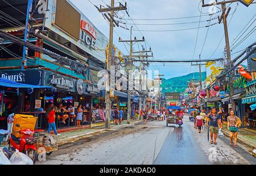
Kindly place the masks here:
POLYGON ((218 125, 221 127, 220 124, 220 116, 216 113, 216 108, 212 109, 212 113, 208 117, 207 127, 210 126, 210 144, 217 145, 217 136, 218 136, 218 125), (210 122, 210 125, 209 125, 210 122), (214 141, 213 141, 213 134, 214 134, 214 141))

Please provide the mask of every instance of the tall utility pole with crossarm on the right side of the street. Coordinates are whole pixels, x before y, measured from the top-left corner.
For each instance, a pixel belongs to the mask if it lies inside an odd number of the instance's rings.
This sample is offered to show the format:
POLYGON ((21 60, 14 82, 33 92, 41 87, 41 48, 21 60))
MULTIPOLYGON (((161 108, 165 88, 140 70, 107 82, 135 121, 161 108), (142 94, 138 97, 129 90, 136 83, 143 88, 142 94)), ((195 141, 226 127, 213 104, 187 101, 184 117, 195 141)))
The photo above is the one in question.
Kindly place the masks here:
MULTIPOLYGON (((226 3, 232 3, 232 2, 237 2, 237 0, 216 2, 216 3, 213 3, 213 4, 209 4, 209 5, 204 5, 204 2, 203 2, 203 7, 213 6, 213 5, 221 5, 222 15, 221 15, 221 18, 218 18, 219 19, 218 23, 220 24, 221 22, 223 22, 223 24, 224 24, 225 42, 226 42, 226 55, 227 55, 226 58, 229 62, 229 67, 230 68, 233 67, 234 64, 233 64, 233 62, 231 60, 231 57, 230 57, 228 24, 227 24, 226 18, 229 15, 231 7, 229 7, 228 11, 226 12, 226 3)), ((235 110, 236 109, 236 104, 235 104, 235 101, 233 100, 233 96, 234 96, 233 73, 234 73, 234 71, 230 71, 230 74, 229 74, 229 98, 230 98, 230 102, 232 104, 232 109, 235 110)))

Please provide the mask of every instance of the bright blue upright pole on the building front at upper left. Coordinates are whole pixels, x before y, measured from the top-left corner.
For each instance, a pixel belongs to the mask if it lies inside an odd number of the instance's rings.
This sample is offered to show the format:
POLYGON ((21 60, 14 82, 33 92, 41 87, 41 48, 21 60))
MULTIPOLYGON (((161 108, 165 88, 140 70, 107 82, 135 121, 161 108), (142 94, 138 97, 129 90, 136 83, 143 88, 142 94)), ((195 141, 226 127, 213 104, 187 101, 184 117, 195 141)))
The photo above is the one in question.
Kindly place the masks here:
MULTIPOLYGON (((32 4, 33 1, 32 0, 28 0, 27 2, 27 16, 26 16, 26 27, 25 27, 25 31, 24 31, 24 42, 27 41, 27 37, 28 37, 28 28, 29 28, 29 20, 31 17, 31 10, 32 10, 32 4)), ((23 53, 22 53, 22 70, 25 70, 25 68, 27 67, 27 47, 23 46, 23 53)))

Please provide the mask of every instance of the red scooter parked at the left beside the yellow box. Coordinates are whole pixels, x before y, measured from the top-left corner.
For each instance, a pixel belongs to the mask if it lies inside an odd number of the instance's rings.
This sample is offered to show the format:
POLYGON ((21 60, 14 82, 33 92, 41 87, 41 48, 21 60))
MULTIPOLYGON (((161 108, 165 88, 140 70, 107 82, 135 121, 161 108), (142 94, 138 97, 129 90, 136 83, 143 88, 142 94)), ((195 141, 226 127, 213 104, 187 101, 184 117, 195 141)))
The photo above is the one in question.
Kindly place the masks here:
MULTIPOLYGON (((20 128, 19 124, 16 124, 16 127, 20 128)), ((33 136, 35 132, 30 129, 20 130, 20 131, 14 131, 19 132, 19 134, 23 134, 22 138, 16 138, 12 133, 9 139, 9 149, 12 147, 14 149, 18 149, 19 152, 22 152, 24 154, 27 154, 28 157, 31 158, 31 160, 34 162, 38 158, 38 153, 36 152, 35 143, 38 142, 38 140, 33 136)))

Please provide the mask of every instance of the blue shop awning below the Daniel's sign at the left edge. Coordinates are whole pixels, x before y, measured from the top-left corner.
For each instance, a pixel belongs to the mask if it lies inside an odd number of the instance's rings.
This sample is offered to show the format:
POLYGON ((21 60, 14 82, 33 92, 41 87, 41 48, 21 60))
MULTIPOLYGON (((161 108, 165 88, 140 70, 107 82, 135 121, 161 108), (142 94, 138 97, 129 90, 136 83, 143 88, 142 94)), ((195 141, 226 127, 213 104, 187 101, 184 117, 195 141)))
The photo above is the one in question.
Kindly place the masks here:
POLYGON ((11 87, 11 88, 52 88, 50 86, 16 83, 14 81, 10 81, 10 80, 7 80, 7 79, 2 79, 2 78, 0 78, 0 86, 11 87))

